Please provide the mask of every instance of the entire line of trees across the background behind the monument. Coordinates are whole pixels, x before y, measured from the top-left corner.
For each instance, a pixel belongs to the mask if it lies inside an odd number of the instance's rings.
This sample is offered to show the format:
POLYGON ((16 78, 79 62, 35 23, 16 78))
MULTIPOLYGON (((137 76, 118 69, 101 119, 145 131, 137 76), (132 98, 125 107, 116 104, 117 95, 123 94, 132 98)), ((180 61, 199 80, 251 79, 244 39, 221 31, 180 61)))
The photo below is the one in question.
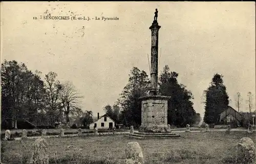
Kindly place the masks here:
MULTIPOLYGON (((178 83, 178 73, 166 65, 159 75, 159 94, 170 96, 167 109, 168 124, 184 127, 201 121, 193 107, 193 94, 186 86, 178 83)), ((2 127, 17 128, 17 120, 24 119, 35 125, 54 127, 56 122, 72 119, 88 127, 93 122, 92 111, 82 111, 83 96, 71 81, 60 83, 57 73, 48 72, 41 79, 41 72, 28 70, 24 63, 4 61, 1 65, 2 127)), ((141 125, 141 96, 150 90, 150 79, 145 71, 133 67, 128 83, 117 102, 104 106, 104 111, 118 124, 138 127, 141 125)), ((216 73, 204 91, 204 122, 215 124, 219 115, 229 105, 229 96, 223 83, 223 75, 216 73)), ((236 106, 241 106, 241 94, 237 93, 236 106)), ((251 114, 252 93, 248 93, 248 108, 251 114)), ((255 113, 255 111, 254 111, 255 113)))

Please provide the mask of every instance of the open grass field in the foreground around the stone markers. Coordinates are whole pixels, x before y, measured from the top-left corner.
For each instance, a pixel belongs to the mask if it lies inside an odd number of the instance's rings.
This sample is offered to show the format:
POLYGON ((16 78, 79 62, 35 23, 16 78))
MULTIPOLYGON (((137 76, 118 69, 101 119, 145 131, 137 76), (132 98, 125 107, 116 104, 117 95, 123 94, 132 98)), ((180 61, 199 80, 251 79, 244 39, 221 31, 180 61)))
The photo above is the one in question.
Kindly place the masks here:
MULTIPOLYGON (((124 163, 125 147, 137 141, 145 163, 235 163, 236 146, 243 136, 255 143, 255 131, 180 133, 180 139, 136 140, 124 136, 88 136, 84 138, 46 139, 50 163, 124 163)), ((34 140, 6 141, 4 163, 25 163, 34 140)))

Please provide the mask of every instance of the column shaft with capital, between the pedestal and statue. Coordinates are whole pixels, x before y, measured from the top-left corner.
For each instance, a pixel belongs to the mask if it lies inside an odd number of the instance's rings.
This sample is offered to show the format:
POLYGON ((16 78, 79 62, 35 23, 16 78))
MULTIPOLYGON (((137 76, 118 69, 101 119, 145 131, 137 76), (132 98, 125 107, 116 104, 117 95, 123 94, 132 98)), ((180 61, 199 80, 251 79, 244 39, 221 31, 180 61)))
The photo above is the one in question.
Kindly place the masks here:
POLYGON ((157 20, 150 26, 151 30, 151 90, 150 95, 157 95, 158 86, 158 32, 161 28, 157 20))

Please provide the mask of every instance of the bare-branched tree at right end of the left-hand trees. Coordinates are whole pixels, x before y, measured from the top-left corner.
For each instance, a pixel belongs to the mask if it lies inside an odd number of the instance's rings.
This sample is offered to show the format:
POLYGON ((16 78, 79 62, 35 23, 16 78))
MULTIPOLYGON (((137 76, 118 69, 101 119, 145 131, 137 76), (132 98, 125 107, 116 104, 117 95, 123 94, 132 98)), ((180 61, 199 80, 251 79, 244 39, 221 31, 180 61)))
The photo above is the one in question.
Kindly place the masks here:
POLYGON ((60 100, 62 111, 66 116, 67 123, 70 122, 69 115, 79 114, 81 112, 81 107, 79 106, 79 100, 83 98, 77 90, 75 86, 70 82, 66 81, 61 84, 60 90, 60 100))

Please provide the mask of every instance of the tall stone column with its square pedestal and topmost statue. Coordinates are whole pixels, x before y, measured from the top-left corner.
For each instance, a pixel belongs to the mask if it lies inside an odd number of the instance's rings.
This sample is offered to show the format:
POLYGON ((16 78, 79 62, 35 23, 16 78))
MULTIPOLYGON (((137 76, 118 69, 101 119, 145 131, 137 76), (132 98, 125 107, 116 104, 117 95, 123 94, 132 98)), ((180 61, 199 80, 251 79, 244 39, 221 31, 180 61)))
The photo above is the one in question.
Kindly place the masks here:
POLYGON ((167 132, 167 105, 170 97, 158 95, 158 11, 151 30, 151 89, 148 96, 141 100, 141 127, 139 132, 167 132))

